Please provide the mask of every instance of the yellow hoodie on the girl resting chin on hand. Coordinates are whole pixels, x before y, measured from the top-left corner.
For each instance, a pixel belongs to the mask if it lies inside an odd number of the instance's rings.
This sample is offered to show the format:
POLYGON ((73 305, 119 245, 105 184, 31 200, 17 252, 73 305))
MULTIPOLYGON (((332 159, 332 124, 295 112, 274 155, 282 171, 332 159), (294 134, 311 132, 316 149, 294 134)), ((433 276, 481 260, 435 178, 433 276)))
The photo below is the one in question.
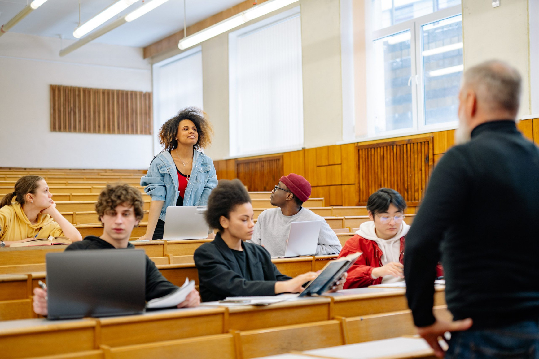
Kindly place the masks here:
POLYGON ((0 240, 18 241, 25 238, 49 238, 64 236, 64 231, 48 214, 38 214, 32 224, 19 203, 0 208, 0 240), (36 236, 37 235, 37 236, 36 236))

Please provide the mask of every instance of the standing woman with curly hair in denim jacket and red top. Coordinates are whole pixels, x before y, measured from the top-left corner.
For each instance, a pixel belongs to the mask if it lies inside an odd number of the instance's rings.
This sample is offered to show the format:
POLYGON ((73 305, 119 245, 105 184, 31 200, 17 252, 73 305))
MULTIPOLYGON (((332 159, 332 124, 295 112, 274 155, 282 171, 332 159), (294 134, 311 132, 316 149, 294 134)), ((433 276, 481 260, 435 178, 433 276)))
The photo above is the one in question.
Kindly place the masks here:
POLYGON ((213 130, 206 114, 188 107, 163 124, 159 142, 163 152, 151 161, 140 180, 151 196, 146 234, 139 240, 163 238, 169 206, 205 206, 217 175, 211 158, 202 150, 211 143, 213 130))

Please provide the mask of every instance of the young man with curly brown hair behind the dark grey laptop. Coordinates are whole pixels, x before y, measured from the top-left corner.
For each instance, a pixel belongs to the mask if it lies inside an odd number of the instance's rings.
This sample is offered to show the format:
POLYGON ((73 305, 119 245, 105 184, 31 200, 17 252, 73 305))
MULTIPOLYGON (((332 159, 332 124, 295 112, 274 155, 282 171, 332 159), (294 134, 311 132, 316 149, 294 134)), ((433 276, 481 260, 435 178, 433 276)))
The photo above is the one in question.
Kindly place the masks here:
MULTIPOLYGON (((87 236, 80 242, 70 244, 66 251, 135 248, 129 243, 129 236, 144 216, 142 196, 136 188, 127 184, 107 185, 99 195, 95 211, 103 224, 103 234, 100 237, 87 236)), ((163 277, 154 262, 146 256, 146 300, 163 297, 177 288, 163 277)), ((178 308, 196 307, 199 303, 200 295, 193 290, 178 308)), ((41 288, 34 288, 33 308, 37 314, 47 315, 46 292, 41 288)))

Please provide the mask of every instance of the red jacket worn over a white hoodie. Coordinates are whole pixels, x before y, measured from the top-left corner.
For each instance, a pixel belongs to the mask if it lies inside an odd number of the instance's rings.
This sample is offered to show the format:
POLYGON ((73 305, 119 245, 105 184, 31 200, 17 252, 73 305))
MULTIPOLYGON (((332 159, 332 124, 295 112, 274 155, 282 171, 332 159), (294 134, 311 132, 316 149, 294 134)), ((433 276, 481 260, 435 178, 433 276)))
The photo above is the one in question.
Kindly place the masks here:
MULTIPOLYGON (((400 254, 399 262, 404 264, 404 238, 400 238, 400 254)), ((341 252, 338 254, 337 258, 348 256, 349 254, 355 252, 363 252, 363 254, 357 258, 356 263, 354 263, 348 270, 348 278, 344 283, 344 289, 348 288, 361 288, 368 287, 369 285, 381 284, 382 277, 376 279, 372 278, 371 273, 373 268, 378 268, 382 266, 382 257, 383 252, 378 247, 375 241, 366 240, 360 235, 355 235, 350 238, 346 243, 341 252)), ((437 276, 443 276, 444 272, 441 268, 441 265, 438 264, 436 269, 437 276)))

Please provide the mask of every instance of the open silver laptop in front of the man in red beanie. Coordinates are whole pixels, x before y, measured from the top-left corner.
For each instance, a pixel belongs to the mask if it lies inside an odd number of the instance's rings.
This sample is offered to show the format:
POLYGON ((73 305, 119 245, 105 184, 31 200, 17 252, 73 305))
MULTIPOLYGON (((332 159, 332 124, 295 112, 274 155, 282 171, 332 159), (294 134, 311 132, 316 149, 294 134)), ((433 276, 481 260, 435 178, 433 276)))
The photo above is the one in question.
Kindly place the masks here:
POLYGON ((322 221, 292 222, 286 243, 286 251, 282 256, 273 258, 288 258, 312 256, 316 253, 318 237, 322 221))

